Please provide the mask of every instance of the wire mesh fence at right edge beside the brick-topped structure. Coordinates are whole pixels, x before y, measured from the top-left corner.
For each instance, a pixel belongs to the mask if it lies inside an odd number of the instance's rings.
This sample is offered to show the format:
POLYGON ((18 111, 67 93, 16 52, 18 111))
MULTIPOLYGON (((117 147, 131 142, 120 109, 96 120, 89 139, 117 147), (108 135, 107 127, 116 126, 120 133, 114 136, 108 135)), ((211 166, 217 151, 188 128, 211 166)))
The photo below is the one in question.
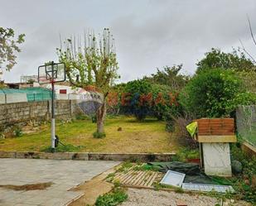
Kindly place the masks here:
POLYGON ((236 109, 236 127, 239 137, 256 146, 256 105, 236 109))

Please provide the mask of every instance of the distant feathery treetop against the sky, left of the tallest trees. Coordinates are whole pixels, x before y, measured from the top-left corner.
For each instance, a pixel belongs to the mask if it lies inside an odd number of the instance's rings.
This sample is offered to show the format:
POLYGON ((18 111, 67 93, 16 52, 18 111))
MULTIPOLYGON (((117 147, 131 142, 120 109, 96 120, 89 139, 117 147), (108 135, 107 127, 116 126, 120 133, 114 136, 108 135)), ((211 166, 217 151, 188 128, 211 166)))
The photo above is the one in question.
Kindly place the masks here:
POLYGON ((145 77, 144 79, 154 84, 167 85, 173 91, 179 91, 189 80, 188 76, 180 74, 181 69, 182 65, 165 66, 162 70, 157 68, 156 74, 151 74, 151 77, 145 77))

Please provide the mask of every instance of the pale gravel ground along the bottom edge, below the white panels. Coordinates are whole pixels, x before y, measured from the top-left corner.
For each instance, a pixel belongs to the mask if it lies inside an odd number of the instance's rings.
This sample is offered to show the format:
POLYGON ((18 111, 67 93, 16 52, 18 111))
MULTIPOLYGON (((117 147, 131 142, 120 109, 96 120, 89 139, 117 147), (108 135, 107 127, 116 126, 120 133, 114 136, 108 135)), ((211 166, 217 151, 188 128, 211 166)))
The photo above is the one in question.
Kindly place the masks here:
MULTIPOLYGON (((122 206, 176 206, 176 200, 181 199, 188 206, 215 206, 217 199, 204 195, 179 194, 175 192, 155 191, 152 189, 128 189, 128 200, 122 206)), ((233 204, 225 203, 224 206, 250 206, 244 201, 233 204)))

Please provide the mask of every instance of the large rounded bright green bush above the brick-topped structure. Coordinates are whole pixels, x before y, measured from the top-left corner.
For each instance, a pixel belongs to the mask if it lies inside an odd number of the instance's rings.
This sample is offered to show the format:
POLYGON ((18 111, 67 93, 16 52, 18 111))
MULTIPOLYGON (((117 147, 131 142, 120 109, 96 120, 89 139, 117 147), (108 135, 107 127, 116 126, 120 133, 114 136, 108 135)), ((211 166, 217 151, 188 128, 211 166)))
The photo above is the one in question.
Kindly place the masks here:
POLYGON ((196 117, 229 117, 238 104, 255 103, 255 99, 245 93, 234 71, 224 69, 196 74, 181 93, 181 103, 196 117))

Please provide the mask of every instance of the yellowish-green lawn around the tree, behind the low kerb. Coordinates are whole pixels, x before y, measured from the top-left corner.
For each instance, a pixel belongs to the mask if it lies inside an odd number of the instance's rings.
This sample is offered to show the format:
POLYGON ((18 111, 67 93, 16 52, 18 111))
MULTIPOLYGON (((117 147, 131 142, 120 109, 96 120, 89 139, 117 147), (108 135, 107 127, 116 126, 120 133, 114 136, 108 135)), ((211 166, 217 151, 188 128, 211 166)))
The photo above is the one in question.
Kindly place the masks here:
MULTIPOLYGON (((108 117, 105 121, 106 137, 96 139, 96 124, 91 120, 56 124, 60 141, 70 145, 70 151, 99 152, 176 152, 179 148, 174 135, 165 131, 165 122, 147 118, 137 122, 134 117, 108 117), (118 127, 122 131, 118 132, 118 127)), ((51 144, 50 124, 41 126, 40 132, 0 140, 0 151, 43 151, 51 144)))

